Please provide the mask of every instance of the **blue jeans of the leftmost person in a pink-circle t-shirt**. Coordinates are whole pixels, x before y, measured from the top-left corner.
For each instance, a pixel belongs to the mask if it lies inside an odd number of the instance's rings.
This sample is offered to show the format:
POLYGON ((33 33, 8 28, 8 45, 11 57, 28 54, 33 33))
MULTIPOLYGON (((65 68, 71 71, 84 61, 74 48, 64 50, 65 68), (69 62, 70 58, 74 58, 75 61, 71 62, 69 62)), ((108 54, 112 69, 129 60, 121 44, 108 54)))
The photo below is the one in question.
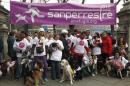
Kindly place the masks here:
POLYGON ((19 79, 22 74, 22 58, 18 57, 16 60, 16 79, 19 79))

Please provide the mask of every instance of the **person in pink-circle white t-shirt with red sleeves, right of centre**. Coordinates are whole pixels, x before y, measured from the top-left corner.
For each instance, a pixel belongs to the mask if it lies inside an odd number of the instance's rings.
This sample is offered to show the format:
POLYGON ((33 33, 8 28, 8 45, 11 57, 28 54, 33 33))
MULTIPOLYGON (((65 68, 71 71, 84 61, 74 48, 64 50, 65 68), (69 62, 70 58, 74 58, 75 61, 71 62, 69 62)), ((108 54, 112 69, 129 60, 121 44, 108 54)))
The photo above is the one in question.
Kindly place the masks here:
MULTIPOLYGON (((74 69, 82 66, 82 59, 85 52, 89 51, 88 41, 85 39, 85 33, 82 32, 74 45, 74 69)), ((76 72, 76 80, 82 79, 82 70, 76 72)))

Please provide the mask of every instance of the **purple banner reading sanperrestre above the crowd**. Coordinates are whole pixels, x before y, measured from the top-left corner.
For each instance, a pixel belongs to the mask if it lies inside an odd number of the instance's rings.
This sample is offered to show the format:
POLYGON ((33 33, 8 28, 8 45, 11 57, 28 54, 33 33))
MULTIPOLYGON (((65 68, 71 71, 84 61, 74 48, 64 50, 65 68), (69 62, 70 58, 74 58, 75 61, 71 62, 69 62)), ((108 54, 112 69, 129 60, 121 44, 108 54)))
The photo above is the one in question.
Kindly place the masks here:
POLYGON ((115 4, 24 3, 11 1, 12 24, 114 25, 115 4))

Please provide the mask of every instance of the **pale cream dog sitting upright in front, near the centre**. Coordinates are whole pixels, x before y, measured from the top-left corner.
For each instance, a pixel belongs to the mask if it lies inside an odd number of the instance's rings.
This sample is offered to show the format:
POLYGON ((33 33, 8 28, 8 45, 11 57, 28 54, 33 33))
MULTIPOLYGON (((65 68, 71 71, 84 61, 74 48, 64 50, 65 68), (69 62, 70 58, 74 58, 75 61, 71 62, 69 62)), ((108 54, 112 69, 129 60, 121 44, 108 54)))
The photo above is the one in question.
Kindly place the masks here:
POLYGON ((72 70, 69 62, 66 59, 61 61, 61 68, 63 69, 63 74, 60 83, 64 82, 66 78, 70 79, 70 84, 73 84, 74 71, 72 70))

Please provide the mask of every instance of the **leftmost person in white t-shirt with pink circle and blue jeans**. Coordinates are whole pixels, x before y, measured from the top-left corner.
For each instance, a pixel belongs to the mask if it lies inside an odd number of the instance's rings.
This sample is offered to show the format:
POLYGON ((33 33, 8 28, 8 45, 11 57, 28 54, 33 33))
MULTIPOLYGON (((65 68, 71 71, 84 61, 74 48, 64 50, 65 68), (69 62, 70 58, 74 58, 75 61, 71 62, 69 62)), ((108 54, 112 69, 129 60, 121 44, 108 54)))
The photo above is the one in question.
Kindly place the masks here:
POLYGON ((23 58, 23 55, 27 53, 28 49, 31 49, 31 44, 25 39, 24 33, 18 33, 16 36, 16 41, 13 45, 14 50, 16 51, 16 79, 19 79, 21 77, 22 72, 22 65, 21 61, 23 58))

